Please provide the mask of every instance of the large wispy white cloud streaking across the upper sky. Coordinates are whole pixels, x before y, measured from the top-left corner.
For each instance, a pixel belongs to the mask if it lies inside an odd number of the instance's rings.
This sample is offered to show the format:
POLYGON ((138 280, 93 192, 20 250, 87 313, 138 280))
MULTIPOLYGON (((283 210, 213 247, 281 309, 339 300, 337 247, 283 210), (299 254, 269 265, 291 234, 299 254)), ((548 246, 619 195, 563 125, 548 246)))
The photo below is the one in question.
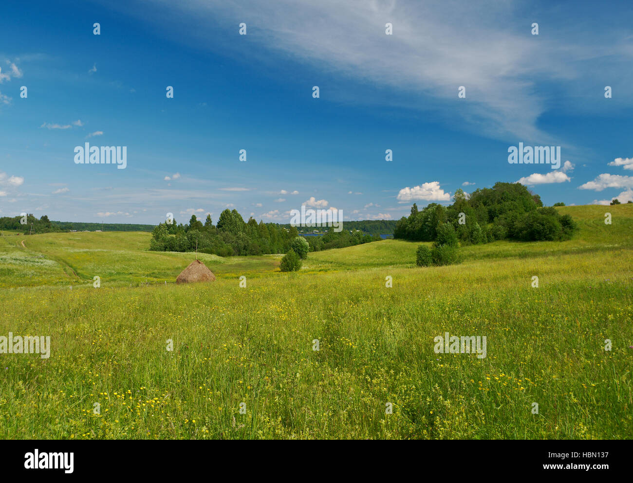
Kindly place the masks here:
MULTIPOLYGON (((414 108, 424 109, 433 101, 454 105, 460 102, 458 86, 465 85, 472 101, 463 102, 459 111, 473 130, 522 138, 544 135, 537 120, 548 99, 535 88, 535 79, 573 85, 586 75, 591 64, 587 59, 600 59, 602 68, 617 73, 631 52, 622 35, 570 35, 580 28, 572 20, 542 39, 529 35, 528 23, 526 35, 525 29, 515 28, 525 18, 513 1, 460 8, 452 2, 406 0, 244 0, 223 3, 221 8, 206 0, 162 4, 187 18, 196 35, 185 35, 197 46, 240 49, 205 34, 203 27, 211 22, 223 25, 227 19, 241 18, 247 24, 266 25, 265 48, 378 87, 427 95, 414 108), (385 35, 386 21, 393 24, 393 35, 385 35), (613 57, 606 51, 614 52, 613 57)), ((133 15, 146 12, 137 9, 133 15)))

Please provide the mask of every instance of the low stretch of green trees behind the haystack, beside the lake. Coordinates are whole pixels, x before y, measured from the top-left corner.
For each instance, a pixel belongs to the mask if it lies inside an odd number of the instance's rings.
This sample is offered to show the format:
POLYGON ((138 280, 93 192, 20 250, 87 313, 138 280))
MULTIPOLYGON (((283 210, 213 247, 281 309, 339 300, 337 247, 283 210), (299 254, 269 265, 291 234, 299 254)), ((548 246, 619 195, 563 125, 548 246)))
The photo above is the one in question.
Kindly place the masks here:
MULTIPOLYGON (((344 223, 345 225, 347 224, 344 223)), ((346 227, 347 228, 347 227, 346 227)), ((237 210, 225 209, 214 225, 207 215, 204 224, 195 215, 188 224, 161 223, 152 231, 149 249, 158 252, 198 252, 220 255, 264 255, 288 252, 299 235, 296 227, 285 228, 277 223, 257 223, 253 217, 244 221, 237 210)), ((323 236, 306 236, 310 251, 350 247, 380 240, 379 235, 363 235, 360 231, 339 233, 330 227, 323 236)))

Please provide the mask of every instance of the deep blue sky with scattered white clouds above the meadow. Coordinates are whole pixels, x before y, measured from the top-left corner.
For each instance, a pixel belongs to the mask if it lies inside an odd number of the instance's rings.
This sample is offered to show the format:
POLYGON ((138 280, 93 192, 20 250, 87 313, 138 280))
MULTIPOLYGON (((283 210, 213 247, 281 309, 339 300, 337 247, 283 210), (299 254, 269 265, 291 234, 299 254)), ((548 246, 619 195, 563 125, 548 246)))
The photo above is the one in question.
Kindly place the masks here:
POLYGON ((633 199, 626 2, 110 3, 3 3, 0 216, 399 219, 518 180, 546 204, 633 199), (75 164, 85 142, 127 167, 75 164), (568 163, 509 164, 519 142, 568 163))

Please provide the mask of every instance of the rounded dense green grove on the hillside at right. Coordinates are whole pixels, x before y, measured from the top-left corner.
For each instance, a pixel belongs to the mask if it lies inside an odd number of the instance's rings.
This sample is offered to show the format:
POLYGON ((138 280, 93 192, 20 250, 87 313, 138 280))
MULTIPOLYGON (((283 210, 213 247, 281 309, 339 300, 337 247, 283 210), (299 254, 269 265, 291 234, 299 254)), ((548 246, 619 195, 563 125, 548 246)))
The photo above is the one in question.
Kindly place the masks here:
POLYGON ((576 229, 571 216, 543 207, 541 197, 519 183, 499 182, 470 196, 460 189, 453 201, 448 207, 431 203, 422 210, 413 204, 411 214, 396 224, 394 238, 432 242, 444 224, 451 225, 462 244, 505 239, 567 240, 576 229))

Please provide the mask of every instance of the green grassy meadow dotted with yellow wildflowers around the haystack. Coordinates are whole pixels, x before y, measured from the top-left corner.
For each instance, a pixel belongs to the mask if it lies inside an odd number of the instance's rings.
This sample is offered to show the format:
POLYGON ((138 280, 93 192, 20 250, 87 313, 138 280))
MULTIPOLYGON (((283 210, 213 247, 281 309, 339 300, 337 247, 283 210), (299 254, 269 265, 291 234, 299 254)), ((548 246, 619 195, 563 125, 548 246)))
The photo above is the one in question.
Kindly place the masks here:
POLYGON ((193 255, 149 233, 5 233, 0 335, 51 336, 51 357, 0 354, 0 437, 630 439, 633 205, 560 211, 572 240, 458 266, 384 240, 292 274, 201 254, 217 280, 191 285, 173 282, 193 255), (487 357, 435 353, 445 332, 487 357))

